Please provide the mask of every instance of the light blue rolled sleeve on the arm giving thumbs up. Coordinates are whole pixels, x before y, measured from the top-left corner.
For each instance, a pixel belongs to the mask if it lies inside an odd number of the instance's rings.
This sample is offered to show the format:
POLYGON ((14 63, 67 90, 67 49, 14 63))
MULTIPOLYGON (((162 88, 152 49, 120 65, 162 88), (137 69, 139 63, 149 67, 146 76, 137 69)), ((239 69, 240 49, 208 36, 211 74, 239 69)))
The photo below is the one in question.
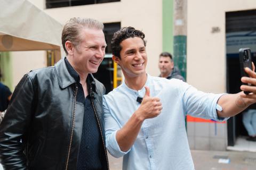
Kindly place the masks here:
POLYGON ((116 141, 116 132, 121 129, 121 125, 117 122, 116 118, 110 113, 109 107, 105 97, 103 97, 103 112, 105 121, 105 137, 106 137, 106 147, 109 153, 116 157, 122 157, 127 154, 131 149, 127 151, 122 151, 116 141))

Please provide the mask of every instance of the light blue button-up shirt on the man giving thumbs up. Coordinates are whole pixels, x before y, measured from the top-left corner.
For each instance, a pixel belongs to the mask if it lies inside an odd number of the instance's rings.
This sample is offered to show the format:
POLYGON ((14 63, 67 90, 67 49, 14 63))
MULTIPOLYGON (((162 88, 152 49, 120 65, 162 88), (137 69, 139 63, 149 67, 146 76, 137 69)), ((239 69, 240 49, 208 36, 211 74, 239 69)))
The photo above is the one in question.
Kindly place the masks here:
POLYGON ((185 115, 219 121, 216 109, 222 94, 207 94, 181 80, 149 74, 145 86, 149 87, 150 96, 160 98, 163 109, 159 116, 142 123, 137 139, 126 152, 119 148, 116 132, 139 108, 136 99, 145 95, 145 88, 132 90, 123 83, 103 97, 108 151, 114 157, 124 156, 123 169, 194 169, 185 115))

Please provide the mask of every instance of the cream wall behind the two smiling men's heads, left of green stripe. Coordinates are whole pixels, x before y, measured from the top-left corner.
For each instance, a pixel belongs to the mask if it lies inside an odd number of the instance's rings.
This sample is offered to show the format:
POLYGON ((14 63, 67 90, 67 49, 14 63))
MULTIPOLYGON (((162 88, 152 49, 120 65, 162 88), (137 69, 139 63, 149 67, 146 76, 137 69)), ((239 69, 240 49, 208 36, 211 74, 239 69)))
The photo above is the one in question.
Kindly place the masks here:
POLYGON ((162 1, 122 0, 121 2, 45 9, 45 0, 30 0, 55 20, 65 24, 72 17, 94 18, 103 23, 121 22, 146 35, 148 66, 151 75, 158 75, 158 55, 162 52, 162 1), (43 3, 42 3, 43 2, 43 3), (43 5, 42 5, 43 4, 43 5))

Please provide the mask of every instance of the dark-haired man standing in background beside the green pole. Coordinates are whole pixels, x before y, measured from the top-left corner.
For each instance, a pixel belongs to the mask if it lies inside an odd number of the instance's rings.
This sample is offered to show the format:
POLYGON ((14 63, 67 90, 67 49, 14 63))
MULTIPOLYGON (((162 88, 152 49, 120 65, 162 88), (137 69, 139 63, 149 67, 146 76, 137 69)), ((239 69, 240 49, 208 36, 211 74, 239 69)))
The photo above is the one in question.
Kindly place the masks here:
POLYGON ((185 81, 185 79, 180 74, 178 67, 174 66, 174 62, 172 60, 172 55, 168 52, 163 52, 159 55, 158 68, 161 72, 159 77, 166 79, 180 79, 185 81))

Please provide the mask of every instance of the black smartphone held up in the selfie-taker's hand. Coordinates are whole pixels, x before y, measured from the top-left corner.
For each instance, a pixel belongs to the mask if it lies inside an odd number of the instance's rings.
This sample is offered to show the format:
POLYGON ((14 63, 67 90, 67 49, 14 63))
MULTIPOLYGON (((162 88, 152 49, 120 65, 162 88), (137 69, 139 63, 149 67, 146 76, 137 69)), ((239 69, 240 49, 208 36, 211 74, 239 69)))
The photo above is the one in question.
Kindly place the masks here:
MULTIPOLYGON (((250 48, 240 48, 239 49, 239 61, 241 69, 241 77, 249 77, 249 75, 244 71, 245 67, 249 67, 252 70, 252 56, 250 48)), ((251 83, 243 83, 247 86, 252 86, 251 83)), ((248 95, 251 91, 244 91, 244 94, 248 95)))

